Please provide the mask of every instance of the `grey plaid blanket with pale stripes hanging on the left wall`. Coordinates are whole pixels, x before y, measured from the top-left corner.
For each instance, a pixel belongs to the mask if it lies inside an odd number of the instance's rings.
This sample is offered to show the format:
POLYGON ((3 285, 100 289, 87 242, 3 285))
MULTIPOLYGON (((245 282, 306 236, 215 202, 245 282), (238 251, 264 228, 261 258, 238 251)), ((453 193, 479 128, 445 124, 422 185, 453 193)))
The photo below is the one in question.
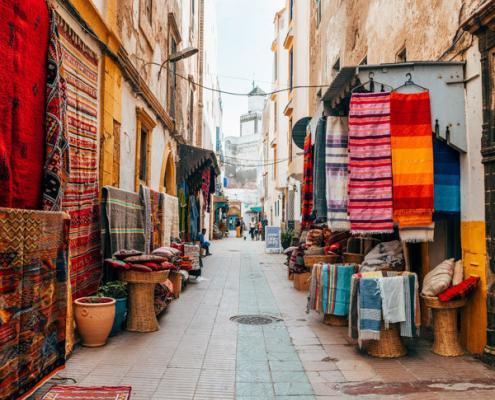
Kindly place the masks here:
POLYGON ((119 250, 144 251, 143 206, 137 193, 103 187, 102 236, 105 258, 119 250))

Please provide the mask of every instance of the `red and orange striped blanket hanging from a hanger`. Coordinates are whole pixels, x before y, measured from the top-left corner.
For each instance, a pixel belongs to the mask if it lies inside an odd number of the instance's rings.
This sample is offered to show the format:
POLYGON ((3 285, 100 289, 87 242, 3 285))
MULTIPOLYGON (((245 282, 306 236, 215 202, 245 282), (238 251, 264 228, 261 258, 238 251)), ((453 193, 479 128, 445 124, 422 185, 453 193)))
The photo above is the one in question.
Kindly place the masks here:
POLYGON ((430 96, 390 95, 394 220, 400 228, 428 226, 433 214, 430 96))

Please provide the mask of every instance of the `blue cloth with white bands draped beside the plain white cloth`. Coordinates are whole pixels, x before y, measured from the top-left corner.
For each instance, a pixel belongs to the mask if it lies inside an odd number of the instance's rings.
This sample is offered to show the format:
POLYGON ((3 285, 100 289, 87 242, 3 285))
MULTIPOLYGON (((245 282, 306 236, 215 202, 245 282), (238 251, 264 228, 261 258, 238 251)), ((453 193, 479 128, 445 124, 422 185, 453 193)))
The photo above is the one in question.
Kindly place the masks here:
POLYGON ((359 280, 359 339, 379 340, 382 299, 377 278, 359 280))

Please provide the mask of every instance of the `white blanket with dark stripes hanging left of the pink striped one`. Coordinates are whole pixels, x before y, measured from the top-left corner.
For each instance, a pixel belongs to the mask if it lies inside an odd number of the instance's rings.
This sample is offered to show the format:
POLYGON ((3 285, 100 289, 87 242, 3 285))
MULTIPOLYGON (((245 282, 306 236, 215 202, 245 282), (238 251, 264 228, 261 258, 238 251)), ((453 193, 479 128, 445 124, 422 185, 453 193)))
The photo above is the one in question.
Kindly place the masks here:
POLYGON ((350 229, 347 215, 348 132, 345 118, 328 117, 326 138, 327 221, 332 231, 350 229))

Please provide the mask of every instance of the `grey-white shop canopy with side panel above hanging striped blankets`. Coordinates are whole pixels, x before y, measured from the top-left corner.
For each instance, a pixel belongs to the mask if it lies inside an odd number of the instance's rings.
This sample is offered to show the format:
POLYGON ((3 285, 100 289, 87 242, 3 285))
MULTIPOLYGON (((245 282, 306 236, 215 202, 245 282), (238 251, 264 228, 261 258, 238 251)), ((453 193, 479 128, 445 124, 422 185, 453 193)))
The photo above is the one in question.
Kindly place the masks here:
MULTIPOLYGON (((439 139, 458 151, 467 150, 464 84, 472 77, 464 78, 463 62, 418 61, 395 64, 357 65, 341 68, 322 97, 324 115, 345 116, 349 113, 349 101, 354 87, 375 81, 375 90, 381 84, 399 87, 411 74, 412 80, 430 92, 432 129, 439 139)), ((311 131, 321 114, 313 117, 311 131)))

